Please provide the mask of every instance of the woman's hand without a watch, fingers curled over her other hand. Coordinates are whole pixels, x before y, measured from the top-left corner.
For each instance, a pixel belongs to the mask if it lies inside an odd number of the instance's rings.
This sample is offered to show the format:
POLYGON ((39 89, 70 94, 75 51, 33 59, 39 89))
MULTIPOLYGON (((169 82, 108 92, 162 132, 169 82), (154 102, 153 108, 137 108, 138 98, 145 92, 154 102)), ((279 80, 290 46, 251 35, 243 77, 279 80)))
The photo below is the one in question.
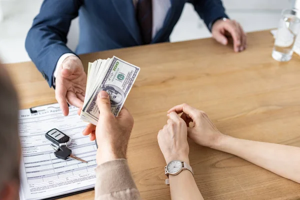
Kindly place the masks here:
POLYGON ((223 134, 213 125, 207 114, 201 110, 189 106, 188 104, 180 104, 168 110, 168 113, 181 113, 181 119, 186 123, 188 137, 193 139, 197 144, 213 147, 222 138, 223 134), (193 126, 189 127, 189 123, 193 122, 193 126))

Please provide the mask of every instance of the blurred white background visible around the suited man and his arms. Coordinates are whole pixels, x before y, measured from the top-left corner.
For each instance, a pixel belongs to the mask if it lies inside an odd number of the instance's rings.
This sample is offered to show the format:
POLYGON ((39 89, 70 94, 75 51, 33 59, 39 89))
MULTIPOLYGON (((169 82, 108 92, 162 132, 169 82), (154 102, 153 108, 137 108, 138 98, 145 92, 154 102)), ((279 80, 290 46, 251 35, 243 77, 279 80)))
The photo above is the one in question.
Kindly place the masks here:
MULTIPOLYGON (((0 57, 2 62, 30 60, 24 47, 26 33, 42 0, 0 0, 0 57)), ((223 0, 227 14, 239 21, 246 32, 275 28, 283 8, 294 0, 223 0)), ((75 49, 79 34, 78 20, 73 20, 67 45, 75 49)), ((210 37, 210 33, 193 7, 185 4, 183 13, 170 36, 171 41, 210 37)))

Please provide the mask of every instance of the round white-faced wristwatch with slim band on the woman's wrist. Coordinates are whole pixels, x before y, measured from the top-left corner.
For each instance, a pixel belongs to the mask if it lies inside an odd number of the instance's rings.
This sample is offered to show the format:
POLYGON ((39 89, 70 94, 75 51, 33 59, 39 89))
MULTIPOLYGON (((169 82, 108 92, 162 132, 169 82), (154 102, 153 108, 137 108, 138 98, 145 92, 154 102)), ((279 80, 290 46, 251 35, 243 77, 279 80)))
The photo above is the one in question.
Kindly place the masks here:
MULTIPOLYGON (((191 172, 191 174, 193 175, 193 170, 189 164, 176 159, 176 160, 170 161, 164 167, 164 174, 166 175, 166 177, 168 177, 169 175, 177 175, 184 169, 189 170, 191 172)), ((169 184, 168 178, 165 179, 165 184, 169 184)))

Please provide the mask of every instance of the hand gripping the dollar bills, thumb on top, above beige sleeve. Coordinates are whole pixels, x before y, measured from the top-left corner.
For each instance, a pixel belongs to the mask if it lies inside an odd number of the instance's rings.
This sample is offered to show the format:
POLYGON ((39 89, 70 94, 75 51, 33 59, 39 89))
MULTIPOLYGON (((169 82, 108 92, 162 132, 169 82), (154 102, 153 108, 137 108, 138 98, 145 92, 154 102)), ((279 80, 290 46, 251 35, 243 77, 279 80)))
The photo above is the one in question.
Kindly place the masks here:
POLYGON ((133 117, 123 106, 115 117, 110 111, 109 95, 100 91, 97 96, 100 111, 95 135, 97 138, 97 164, 113 159, 126 158, 127 145, 133 126, 133 117))

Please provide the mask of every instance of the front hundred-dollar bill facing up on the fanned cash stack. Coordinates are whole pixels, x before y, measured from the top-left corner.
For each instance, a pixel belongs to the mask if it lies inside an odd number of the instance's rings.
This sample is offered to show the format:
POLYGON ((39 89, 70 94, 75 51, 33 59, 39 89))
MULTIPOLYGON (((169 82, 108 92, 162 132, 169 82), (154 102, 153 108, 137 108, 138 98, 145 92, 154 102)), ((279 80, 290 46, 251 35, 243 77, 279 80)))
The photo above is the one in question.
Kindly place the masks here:
POLYGON ((118 57, 110 59, 108 67, 101 75, 101 82, 87 99, 82 108, 82 119, 89 119, 95 124, 99 117, 99 109, 96 104, 97 95, 101 90, 105 90, 110 98, 111 112, 117 116, 121 110, 127 95, 137 77, 139 67, 130 64, 118 57))

